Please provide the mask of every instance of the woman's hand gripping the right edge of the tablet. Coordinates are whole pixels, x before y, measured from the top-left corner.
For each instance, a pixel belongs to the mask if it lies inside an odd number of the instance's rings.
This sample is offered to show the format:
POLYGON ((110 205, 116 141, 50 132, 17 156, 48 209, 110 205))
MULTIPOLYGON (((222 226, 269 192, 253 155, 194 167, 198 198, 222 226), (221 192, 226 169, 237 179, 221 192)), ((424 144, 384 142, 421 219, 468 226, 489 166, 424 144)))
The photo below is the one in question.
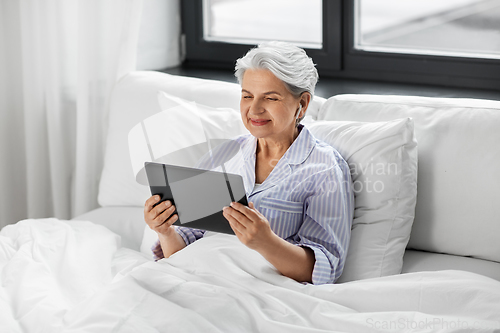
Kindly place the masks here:
POLYGON ((231 207, 224 207, 222 214, 229 221, 236 237, 253 250, 259 251, 276 236, 269 221, 255 209, 253 202, 248 207, 232 202, 231 207))

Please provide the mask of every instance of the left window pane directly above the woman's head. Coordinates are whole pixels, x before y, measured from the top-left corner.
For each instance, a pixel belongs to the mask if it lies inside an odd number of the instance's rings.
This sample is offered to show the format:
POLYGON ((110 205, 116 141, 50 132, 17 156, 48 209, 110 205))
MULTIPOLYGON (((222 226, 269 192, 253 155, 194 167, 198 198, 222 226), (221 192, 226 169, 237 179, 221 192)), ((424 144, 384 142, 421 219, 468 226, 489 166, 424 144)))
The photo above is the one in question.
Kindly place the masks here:
POLYGON ((207 41, 322 48, 322 0, 204 0, 203 15, 207 41))

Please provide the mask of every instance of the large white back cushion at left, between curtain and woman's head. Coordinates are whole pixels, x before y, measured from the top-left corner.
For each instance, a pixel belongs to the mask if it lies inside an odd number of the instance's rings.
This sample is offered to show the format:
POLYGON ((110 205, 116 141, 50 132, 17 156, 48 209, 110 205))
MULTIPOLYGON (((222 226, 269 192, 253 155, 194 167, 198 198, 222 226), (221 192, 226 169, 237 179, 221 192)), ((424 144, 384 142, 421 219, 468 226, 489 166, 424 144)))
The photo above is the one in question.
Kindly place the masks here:
POLYGON ((169 75, 153 71, 132 72, 113 88, 104 167, 98 202, 108 206, 143 206, 149 188, 135 180, 130 163, 128 135, 142 120, 162 111, 158 91, 212 108, 237 110, 241 87, 236 83, 169 75))

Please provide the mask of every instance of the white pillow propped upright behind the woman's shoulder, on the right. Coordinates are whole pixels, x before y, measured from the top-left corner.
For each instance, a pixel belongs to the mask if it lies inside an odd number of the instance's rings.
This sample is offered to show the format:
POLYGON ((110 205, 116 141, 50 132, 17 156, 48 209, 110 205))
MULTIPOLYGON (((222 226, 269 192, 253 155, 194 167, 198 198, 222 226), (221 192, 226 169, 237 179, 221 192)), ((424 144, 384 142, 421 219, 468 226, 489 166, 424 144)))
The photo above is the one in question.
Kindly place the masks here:
POLYGON ((417 197, 413 120, 363 123, 305 119, 349 164, 355 192, 351 243, 338 282, 401 273, 417 197))

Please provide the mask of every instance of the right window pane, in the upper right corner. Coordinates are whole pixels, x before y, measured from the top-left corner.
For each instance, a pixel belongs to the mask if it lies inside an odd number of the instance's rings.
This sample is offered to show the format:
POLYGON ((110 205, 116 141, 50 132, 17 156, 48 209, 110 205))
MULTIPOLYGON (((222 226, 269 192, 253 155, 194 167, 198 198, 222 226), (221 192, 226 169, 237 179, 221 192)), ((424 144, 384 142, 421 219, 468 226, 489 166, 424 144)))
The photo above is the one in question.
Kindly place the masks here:
POLYGON ((500 0, 357 0, 365 51, 500 59, 500 0))

